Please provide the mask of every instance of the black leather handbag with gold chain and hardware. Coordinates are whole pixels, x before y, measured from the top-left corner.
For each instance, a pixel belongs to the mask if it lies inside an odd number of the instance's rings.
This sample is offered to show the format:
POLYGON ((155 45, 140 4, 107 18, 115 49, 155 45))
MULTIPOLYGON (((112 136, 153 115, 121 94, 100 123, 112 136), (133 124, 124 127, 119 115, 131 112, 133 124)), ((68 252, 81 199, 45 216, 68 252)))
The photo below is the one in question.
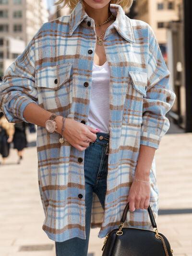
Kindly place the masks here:
POLYGON ((173 256, 168 239, 157 231, 151 207, 147 208, 154 231, 138 228, 123 228, 129 210, 127 203, 118 229, 106 235, 102 256, 173 256))

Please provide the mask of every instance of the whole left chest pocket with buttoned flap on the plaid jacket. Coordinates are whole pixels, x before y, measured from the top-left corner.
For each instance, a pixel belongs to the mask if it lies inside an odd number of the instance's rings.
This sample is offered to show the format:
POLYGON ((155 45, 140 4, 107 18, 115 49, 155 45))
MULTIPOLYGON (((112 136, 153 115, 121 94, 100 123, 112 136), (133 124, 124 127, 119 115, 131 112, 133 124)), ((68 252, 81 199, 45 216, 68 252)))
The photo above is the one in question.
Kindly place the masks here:
POLYGON ((36 72, 38 102, 55 113, 67 110, 72 101, 72 63, 48 66, 36 72))

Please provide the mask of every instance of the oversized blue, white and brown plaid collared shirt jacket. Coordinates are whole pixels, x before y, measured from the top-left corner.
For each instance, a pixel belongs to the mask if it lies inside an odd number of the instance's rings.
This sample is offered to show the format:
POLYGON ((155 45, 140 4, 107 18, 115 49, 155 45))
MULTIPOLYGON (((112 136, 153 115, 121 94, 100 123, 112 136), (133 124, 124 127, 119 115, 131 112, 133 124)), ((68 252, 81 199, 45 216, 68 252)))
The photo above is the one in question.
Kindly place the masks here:
MULTIPOLYGON (((130 19, 118 4, 110 4, 110 11, 116 19, 104 36, 110 68, 107 192, 105 210, 94 193, 91 215, 91 228, 100 228, 100 238, 119 227, 140 145, 159 147, 169 128, 166 113, 175 100, 170 73, 150 25, 130 19)), ((95 47, 95 23, 81 0, 70 15, 44 23, 4 73, 0 109, 7 120, 27 122, 24 108, 34 102, 86 124, 95 47)), ((84 150, 66 140, 60 144, 59 138, 60 134, 37 126, 38 183, 45 212, 42 229, 57 242, 85 239, 84 150)), ((155 158, 150 182, 150 206, 156 218, 155 158)), ((124 227, 152 229, 147 210, 128 212, 124 227)))

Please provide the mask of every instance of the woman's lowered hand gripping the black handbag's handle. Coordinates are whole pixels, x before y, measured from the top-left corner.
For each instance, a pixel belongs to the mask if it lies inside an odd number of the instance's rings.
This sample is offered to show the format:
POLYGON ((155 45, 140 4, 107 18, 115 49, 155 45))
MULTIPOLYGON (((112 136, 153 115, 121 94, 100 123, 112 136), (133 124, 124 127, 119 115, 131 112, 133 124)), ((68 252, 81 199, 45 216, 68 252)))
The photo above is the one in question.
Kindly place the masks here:
MULTIPOLYGON (((141 180, 139 177, 138 179, 141 180)), ((135 208, 147 209, 149 207, 150 194, 150 183, 133 180, 127 198, 127 202, 129 202, 130 211, 134 211, 135 208)))

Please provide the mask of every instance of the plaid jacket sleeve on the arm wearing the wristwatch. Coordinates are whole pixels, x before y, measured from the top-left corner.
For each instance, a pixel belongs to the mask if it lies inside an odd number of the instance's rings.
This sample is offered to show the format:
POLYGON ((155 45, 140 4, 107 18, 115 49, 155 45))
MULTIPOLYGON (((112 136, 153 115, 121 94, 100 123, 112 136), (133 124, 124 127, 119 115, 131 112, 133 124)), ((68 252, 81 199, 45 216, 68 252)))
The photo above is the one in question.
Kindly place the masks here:
POLYGON ((0 110, 8 122, 27 122, 23 113, 31 102, 37 104, 34 37, 3 75, 0 83, 0 110))

